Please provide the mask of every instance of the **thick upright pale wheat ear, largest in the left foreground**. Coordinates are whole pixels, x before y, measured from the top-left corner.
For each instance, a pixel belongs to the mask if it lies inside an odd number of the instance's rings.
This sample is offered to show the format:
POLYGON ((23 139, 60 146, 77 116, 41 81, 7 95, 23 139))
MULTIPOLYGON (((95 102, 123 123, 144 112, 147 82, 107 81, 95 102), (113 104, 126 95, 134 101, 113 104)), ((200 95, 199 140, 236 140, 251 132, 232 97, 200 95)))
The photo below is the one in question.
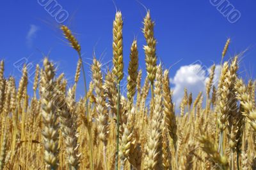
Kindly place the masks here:
POLYGON ((51 169, 58 168, 58 125, 54 106, 54 67, 47 58, 44 59, 42 76, 42 117, 44 136, 44 159, 51 169))

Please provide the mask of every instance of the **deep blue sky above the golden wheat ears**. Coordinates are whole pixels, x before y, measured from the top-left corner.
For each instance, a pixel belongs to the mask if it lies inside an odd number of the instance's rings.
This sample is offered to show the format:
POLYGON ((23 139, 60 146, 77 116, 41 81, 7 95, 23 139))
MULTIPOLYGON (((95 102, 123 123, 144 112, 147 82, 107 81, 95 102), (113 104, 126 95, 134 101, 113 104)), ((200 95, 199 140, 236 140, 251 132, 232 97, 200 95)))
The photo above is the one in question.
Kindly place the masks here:
MULTIPOLYGON (((112 27, 115 5, 112 0, 65 1, 58 0, 69 13, 67 24, 81 43, 84 62, 92 63, 93 48, 97 58, 106 63, 112 58, 112 27), (101 56, 101 57, 100 57, 101 56)), ((141 23, 146 14, 138 1, 115 1, 124 17, 124 62, 129 63, 129 48, 134 37, 138 39, 140 67, 145 73, 145 40, 141 23)), ((218 64, 227 38, 231 38, 227 58, 248 48, 241 60, 243 76, 255 78, 256 62, 256 2, 254 0, 230 3, 241 12, 241 18, 230 24, 210 1, 142 1, 156 22, 157 56, 174 76, 180 66, 200 60, 209 67, 218 64)), ((9 0, 0 2, 0 59, 6 62, 6 76, 20 77, 13 63, 22 57, 36 64, 42 53, 50 52, 50 59, 72 78, 76 71, 77 54, 67 46, 58 23, 37 1, 9 0), (26 38, 31 25, 38 31, 26 38), (29 41, 29 42, 28 42, 29 41)), ((111 63, 110 63, 111 66, 111 63)), ((88 78, 90 69, 86 67, 88 78)), ((81 90, 81 93, 83 90, 81 90)))

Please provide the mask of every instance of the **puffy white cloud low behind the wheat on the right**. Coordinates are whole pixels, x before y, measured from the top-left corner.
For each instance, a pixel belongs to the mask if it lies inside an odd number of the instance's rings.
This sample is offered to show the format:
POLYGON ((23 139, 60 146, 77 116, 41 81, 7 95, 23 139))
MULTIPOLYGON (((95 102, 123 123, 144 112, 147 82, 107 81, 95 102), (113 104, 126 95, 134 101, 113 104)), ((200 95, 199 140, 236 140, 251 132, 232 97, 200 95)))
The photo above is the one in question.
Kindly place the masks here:
MULTIPOLYGON (((171 78, 173 88, 173 101, 175 103, 176 113, 179 113, 179 106, 184 96, 184 88, 188 89, 188 93, 192 92, 193 100, 199 92, 203 92, 204 99, 205 84, 208 80, 211 67, 204 67, 200 64, 191 64, 188 66, 181 66, 176 72, 174 78, 171 78)), ((216 66, 214 74, 214 85, 218 85, 218 79, 220 76, 220 65, 216 66)))

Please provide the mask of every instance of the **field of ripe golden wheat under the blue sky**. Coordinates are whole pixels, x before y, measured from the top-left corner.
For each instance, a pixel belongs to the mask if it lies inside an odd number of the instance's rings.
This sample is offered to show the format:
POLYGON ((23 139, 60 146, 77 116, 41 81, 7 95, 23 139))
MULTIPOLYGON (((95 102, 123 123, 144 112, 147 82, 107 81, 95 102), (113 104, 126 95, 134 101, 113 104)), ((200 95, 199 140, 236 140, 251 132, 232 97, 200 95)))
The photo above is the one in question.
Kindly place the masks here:
POLYGON ((85 68, 79 41, 67 26, 60 29, 77 52, 71 87, 45 57, 42 68, 36 66, 34 93, 29 94, 26 65, 18 82, 4 77, 1 61, 0 169, 256 169, 256 83, 239 77, 240 55, 225 57, 230 39, 220 59, 218 87, 213 65, 207 97, 184 89, 177 112, 169 71, 157 62, 149 11, 143 19, 146 78, 138 69, 134 39, 124 80, 120 11, 113 21, 113 67, 107 73, 97 56, 85 68), (85 69, 92 73, 90 82, 85 69), (80 78, 86 95, 77 99, 80 78), (127 81, 125 94, 121 81, 127 81))

